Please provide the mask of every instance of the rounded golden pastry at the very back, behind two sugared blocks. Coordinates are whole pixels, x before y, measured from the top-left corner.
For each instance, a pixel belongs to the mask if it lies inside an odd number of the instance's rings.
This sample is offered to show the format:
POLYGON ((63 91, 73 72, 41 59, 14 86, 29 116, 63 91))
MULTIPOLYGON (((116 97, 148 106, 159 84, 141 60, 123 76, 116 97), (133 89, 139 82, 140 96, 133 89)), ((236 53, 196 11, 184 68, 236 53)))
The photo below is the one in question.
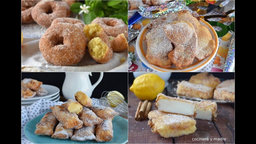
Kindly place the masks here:
POLYGON ((220 84, 220 79, 209 73, 198 73, 191 76, 188 82, 193 84, 203 84, 205 86, 215 88, 218 84, 220 84))

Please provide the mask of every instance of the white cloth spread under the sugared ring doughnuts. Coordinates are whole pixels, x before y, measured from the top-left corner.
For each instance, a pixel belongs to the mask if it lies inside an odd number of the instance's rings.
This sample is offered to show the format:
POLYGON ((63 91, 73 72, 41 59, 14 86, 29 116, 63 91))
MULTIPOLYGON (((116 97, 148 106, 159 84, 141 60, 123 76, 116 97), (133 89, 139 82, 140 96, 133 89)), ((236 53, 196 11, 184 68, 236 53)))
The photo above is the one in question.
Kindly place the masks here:
POLYGON ((30 72, 46 72, 46 71, 58 71, 58 72, 97 72, 97 71, 115 71, 115 72, 127 72, 128 71, 128 52, 113 52, 113 58, 105 64, 99 64, 89 55, 88 49, 86 49, 83 59, 76 66, 54 66, 48 64, 39 50, 39 38, 24 37, 24 42, 21 45, 21 70, 30 72), (37 39, 37 40, 35 40, 37 39), (31 41, 32 40, 32 41, 31 41), (120 60, 125 57, 123 63, 120 60))

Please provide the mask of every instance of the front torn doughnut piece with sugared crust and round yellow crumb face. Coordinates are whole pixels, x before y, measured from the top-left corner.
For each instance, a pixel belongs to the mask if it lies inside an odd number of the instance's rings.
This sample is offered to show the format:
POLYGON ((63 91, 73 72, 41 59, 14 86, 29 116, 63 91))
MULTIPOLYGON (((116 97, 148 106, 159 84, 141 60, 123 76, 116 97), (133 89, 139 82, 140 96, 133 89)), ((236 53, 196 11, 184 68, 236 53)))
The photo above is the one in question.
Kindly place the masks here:
POLYGON ((88 50, 91 57, 99 63, 106 63, 113 56, 112 49, 99 37, 93 38, 88 43, 88 50))

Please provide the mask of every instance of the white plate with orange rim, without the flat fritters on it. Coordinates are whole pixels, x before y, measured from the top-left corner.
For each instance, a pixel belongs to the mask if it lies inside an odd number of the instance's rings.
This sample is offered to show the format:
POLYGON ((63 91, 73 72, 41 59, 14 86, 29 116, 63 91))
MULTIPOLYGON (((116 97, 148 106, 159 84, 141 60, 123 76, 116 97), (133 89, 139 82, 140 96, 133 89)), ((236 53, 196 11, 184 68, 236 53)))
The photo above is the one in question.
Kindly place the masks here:
POLYGON ((136 52, 140 58, 140 60, 150 69, 155 70, 155 71, 162 71, 162 72, 194 72, 197 71, 201 68, 204 68, 207 64, 209 64, 211 62, 211 60, 215 57, 215 55, 217 54, 218 48, 219 48, 219 40, 218 40, 218 35, 216 33, 216 31, 214 30, 214 28, 206 21, 204 21, 203 19, 200 18, 199 20, 200 24, 206 26, 211 35, 212 35, 212 39, 214 39, 215 41, 215 49, 212 52, 211 55, 209 55, 208 57, 206 57, 204 60, 198 61, 196 58, 194 59, 193 63, 190 66, 187 67, 183 67, 181 70, 176 67, 175 65, 172 65, 169 68, 161 68, 159 66, 156 66, 154 64, 150 64, 146 58, 146 53, 147 53, 147 45, 144 42, 144 37, 146 36, 146 34, 149 32, 148 28, 148 24, 142 28, 142 30, 140 31, 140 34, 137 37, 136 40, 136 52))

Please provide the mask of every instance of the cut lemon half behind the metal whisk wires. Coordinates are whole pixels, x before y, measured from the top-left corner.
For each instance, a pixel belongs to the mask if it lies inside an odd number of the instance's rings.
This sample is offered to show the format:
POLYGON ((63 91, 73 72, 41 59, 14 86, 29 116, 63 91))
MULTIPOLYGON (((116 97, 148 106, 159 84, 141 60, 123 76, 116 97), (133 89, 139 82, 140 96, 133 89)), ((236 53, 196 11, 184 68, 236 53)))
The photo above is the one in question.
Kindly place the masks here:
POLYGON ((112 108, 116 108, 116 106, 118 106, 120 103, 123 102, 118 97, 124 100, 124 96, 122 95, 122 93, 118 91, 108 92, 108 96, 107 96, 108 105, 112 108))

